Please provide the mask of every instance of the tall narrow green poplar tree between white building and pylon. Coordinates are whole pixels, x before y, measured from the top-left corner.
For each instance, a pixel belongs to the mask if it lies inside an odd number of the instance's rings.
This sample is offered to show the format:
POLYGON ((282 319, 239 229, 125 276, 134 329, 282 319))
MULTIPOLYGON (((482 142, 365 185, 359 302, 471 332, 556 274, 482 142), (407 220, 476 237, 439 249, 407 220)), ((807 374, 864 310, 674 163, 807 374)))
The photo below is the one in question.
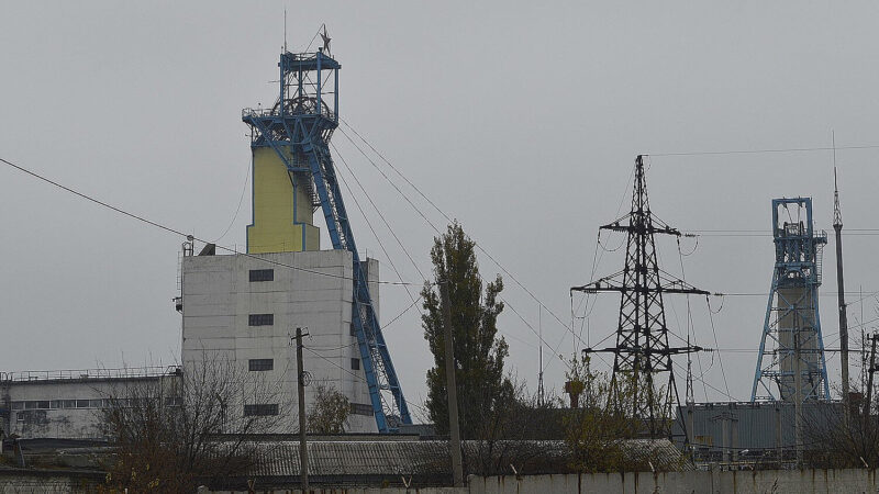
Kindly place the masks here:
POLYGON ((490 417, 508 406, 514 396, 513 384, 503 374, 503 359, 509 348, 498 337, 498 315, 503 311, 499 294, 503 281, 498 276, 485 285, 476 261, 476 243, 457 222, 448 225, 431 249, 436 283, 426 284, 422 326, 434 356, 427 371, 429 418, 438 434, 448 433, 448 402, 445 379, 445 326, 441 283, 448 290, 452 333, 455 349, 455 380, 458 391, 458 416, 461 437, 480 439, 491 434, 490 417))

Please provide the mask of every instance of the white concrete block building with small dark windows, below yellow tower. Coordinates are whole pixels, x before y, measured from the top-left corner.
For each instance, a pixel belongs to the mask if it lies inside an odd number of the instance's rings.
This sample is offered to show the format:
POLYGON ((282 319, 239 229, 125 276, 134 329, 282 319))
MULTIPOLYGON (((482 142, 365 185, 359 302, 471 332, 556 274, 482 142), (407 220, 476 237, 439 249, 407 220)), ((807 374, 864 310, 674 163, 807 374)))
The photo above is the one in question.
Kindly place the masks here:
MULTIPOLYGON (((342 391, 353 404, 369 405, 357 338, 351 334, 351 252, 275 252, 262 254, 259 258, 270 262, 243 255, 183 258, 185 369, 205 357, 220 356, 249 372, 251 359, 271 359, 272 370, 258 372, 266 381, 279 383, 281 393, 276 400, 279 409, 294 415, 297 364, 291 338, 297 327, 307 327, 303 367, 312 377, 312 384, 305 389, 307 407, 313 401, 318 384, 342 391), (251 270, 257 269, 274 270, 274 279, 249 281, 251 270), (274 322, 251 326, 252 314, 272 314, 274 322), (357 360, 358 369, 354 368, 353 359, 357 360)), ((369 261, 368 277, 374 304, 378 307, 378 262, 375 260, 369 261)), ((371 406, 358 408, 371 411, 371 406)), ((369 415, 353 414, 348 430, 376 431, 371 412, 369 415)))

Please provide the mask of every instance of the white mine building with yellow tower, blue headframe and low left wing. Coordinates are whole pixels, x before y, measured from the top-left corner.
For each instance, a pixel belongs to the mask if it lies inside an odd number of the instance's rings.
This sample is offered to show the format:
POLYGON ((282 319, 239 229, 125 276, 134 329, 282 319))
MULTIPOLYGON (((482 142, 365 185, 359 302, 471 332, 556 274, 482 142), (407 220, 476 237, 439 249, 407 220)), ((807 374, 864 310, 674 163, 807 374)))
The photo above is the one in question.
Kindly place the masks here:
POLYGON ((216 361, 254 377, 243 382, 277 390, 268 398, 245 389, 240 403, 224 406, 238 416, 281 416, 272 431, 293 433, 297 329, 307 335, 301 349, 305 409, 324 386, 348 400, 348 431, 390 433, 411 425, 378 323, 378 261, 360 259, 330 156, 341 65, 327 41, 315 53, 282 53, 278 67, 274 105, 242 112, 251 130, 253 177, 246 251, 218 252, 208 244, 196 255, 192 239, 182 247, 175 296, 182 315, 182 367, 137 375, 0 375, 7 435, 99 437, 96 411, 120 385, 180 380, 216 361), (321 250, 318 210, 333 244, 329 250, 321 250))

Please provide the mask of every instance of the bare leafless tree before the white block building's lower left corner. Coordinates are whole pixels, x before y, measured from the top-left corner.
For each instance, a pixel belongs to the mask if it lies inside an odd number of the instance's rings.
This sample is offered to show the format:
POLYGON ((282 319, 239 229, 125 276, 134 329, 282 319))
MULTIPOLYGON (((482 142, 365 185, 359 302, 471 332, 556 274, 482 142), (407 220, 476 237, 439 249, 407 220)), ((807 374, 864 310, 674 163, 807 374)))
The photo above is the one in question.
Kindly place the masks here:
POLYGON ((157 381, 120 386, 102 411, 115 454, 107 490, 191 493, 258 462, 251 434, 274 431, 285 404, 279 383, 216 355, 157 381))

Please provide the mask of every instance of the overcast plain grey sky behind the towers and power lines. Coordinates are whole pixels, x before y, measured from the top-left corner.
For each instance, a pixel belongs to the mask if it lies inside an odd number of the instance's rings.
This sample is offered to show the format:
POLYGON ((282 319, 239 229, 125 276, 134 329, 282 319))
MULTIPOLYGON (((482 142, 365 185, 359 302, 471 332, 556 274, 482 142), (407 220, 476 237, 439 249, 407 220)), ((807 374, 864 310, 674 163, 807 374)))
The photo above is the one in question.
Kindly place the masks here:
MULTIPOLYGON (((838 146, 879 145, 875 2, 4 2, 0 157, 219 238, 249 167, 240 112, 272 102, 285 8, 291 49, 329 26, 343 65, 342 116, 568 325, 568 288, 589 281, 597 228, 617 215, 636 154, 822 147, 832 130, 838 146)), ((434 232, 343 135, 334 143, 429 270, 434 232)), ((837 151, 847 228, 879 228, 877 157, 876 148, 837 151)), ((653 210, 681 229, 768 232, 771 198, 811 195, 817 226, 832 231, 828 151, 648 162, 653 210)), ((404 190, 442 227, 444 218, 404 190)), ((247 199, 221 244, 244 244, 247 199)), ((180 317, 170 300, 181 238, 8 167, 0 201, 2 370, 177 358, 180 317)), ((347 202, 359 248, 392 280, 347 202)), ((379 233, 403 279, 419 282, 383 226, 379 233)), ((622 242, 603 239, 608 250, 622 242)), ((878 240, 845 237, 849 291, 879 290, 878 240)), ((683 252, 693 244, 685 240, 683 252)), ((677 246, 659 247, 666 269, 679 273, 677 246)), ((599 248, 597 276, 619 270, 622 254, 599 248)), ((767 236, 704 236, 683 266, 700 288, 764 294, 772 256, 767 236)), ((825 259, 822 323, 825 345, 837 348, 834 263, 825 259)), ((486 277, 500 271, 485 257, 480 268, 486 277)), ((538 327, 537 303, 512 280, 504 297, 538 327)), ((382 287, 381 302, 385 321, 411 303, 399 287, 382 287)), ((691 302, 697 343, 730 349, 702 356, 697 373, 725 393, 722 358, 730 393, 748 398, 766 296, 725 297, 713 316, 716 344, 704 301, 691 302)), ((866 302, 869 321, 876 301, 866 302)), ((602 295, 590 341, 615 329, 617 305, 602 295)), ((860 305, 850 311, 857 325, 860 305)), ((667 312, 685 334, 685 301, 667 312)), ((572 355, 570 333, 545 312, 539 319, 555 352, 572 355)), ((500 327, 508 369, 534 389, 537 337, 510 310, 500 327)), ((404 393, 422 401, 432 359, 418 312, 386 338, 404 393)), ((544 350, 546 385, 558 390, 565 367, 553 352, 544 350)), ((828 370, 837 382, 835 353, 828 370)), ((700 400, 723 398, 698 382, 696 390, 700 400)))

